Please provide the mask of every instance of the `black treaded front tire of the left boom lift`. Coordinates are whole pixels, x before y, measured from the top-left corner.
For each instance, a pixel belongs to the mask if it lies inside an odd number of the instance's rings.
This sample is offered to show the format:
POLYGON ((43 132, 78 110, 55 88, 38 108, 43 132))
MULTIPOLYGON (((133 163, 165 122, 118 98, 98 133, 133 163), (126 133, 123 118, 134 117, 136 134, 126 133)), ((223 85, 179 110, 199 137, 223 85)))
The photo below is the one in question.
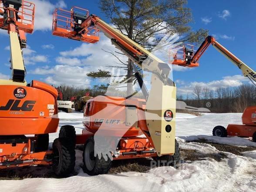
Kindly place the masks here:
POLYGON ((76 161, 74 146, 67 138, 56 138, 52 147, 54 173, 57 176, 67 177, 74 171, 76 161))

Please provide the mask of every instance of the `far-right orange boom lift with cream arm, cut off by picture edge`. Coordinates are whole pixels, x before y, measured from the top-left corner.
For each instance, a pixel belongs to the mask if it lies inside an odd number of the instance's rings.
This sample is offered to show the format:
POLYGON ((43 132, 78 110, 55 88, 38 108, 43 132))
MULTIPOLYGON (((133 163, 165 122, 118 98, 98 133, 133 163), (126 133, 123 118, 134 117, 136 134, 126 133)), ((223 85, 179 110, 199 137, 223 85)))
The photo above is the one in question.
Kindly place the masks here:
MULTIPOLYGON (((249 80, 256 85, 256 72, 253 71, 250 67, 248 67, 243 61, 229 52, 225 47, 219 44, 214 37, 208 36, 199 49, 194 53, 191 51, 191 48, 183 47, 183 58, 184 63, 179 64, 179 60, 177 59, 177 55, 174 57, 174 63, 181 66, 192 66, 198 63, 199 58, 206 51, 206 49, 212 44, 214 48, 216 48, 221 54, 227 57, 233 64, 235 64, 243 73, 243 76, 248 77, 249 80), (178 61, 178 62, 177 62, 178 61), (176 62, 176 63, 175 63, 176 62)), ((239 136, 239 137, 253 137, 253 141, 256 142, 256 107, 247 107, 243 111, 242 116, 243 125, 228 125, 227 128, 223 126, 216 126, 212 134, 214 136, 226 137, 229 136, 239 136)))

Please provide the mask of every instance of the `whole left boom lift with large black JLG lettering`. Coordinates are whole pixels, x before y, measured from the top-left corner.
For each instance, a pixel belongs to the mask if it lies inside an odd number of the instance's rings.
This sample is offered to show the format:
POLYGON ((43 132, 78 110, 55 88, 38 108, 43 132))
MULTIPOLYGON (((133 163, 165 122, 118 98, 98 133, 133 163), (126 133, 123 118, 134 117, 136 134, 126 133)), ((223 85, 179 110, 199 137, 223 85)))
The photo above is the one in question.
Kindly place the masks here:
POLYGON ((11 79, 0 80, 0 169, 53 165, 57 175, 74 169, 74 146, 57 138, 48 150, 49 133, 57 131, 57 90, 40 81, 25 81, 22 48, 34 30, 34 3, 0 0, 0 28, 10 35, 11 79), (33 136, 26 136, 33 135, 33 136))

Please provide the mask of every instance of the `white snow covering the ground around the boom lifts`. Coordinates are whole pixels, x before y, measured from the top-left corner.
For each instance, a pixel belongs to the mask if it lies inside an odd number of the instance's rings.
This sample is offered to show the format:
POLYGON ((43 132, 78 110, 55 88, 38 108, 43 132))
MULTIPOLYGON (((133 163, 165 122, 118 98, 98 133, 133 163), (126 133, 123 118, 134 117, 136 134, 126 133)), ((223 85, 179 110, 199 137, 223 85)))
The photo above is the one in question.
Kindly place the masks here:
MULTIPOLYGON (((81 133, 82 113, 59 113, 60 126, 74 125, 81 133)), ((177 114, 176 135, 182 149, 195 150, 205 154, 221 153, 205 143, 186 142, 204 138, 213 142, 256 146, 246 138, 218 138, 211 136, 216 125, 241 124, 242 114, 209 114, 196 117, 190 114, 177 114)), ((50 135, 50 142, 58 133, 50 135)), ((82 152, 76 151, 78 175, 66 179, 32 178, 24 180, 0 180, 1 191, 17 192, 255 192, 256 191, 256 151, 234 155, 222 152, 227 158, 217 162, 203 158, 194 162, 182 162, 179 168, 158 167, 147 173, 125 172, 89 176, 79 165, 82 152)))

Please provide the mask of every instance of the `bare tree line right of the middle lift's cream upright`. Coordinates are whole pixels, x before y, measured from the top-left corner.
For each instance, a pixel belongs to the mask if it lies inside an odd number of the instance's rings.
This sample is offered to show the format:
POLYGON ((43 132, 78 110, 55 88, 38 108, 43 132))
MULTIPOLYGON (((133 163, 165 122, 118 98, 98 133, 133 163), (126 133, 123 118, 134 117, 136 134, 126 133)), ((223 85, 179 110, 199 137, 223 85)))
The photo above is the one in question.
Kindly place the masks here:
POLYGON ((243 112, 246 107, 256 105, 256 87, 251 84, 242 84, 234 88, 211 90, 195 85, 192 96, 179 95, 177 100, 184 101, 189 106, 209 108, 211 112, 216 113, 243 112))

